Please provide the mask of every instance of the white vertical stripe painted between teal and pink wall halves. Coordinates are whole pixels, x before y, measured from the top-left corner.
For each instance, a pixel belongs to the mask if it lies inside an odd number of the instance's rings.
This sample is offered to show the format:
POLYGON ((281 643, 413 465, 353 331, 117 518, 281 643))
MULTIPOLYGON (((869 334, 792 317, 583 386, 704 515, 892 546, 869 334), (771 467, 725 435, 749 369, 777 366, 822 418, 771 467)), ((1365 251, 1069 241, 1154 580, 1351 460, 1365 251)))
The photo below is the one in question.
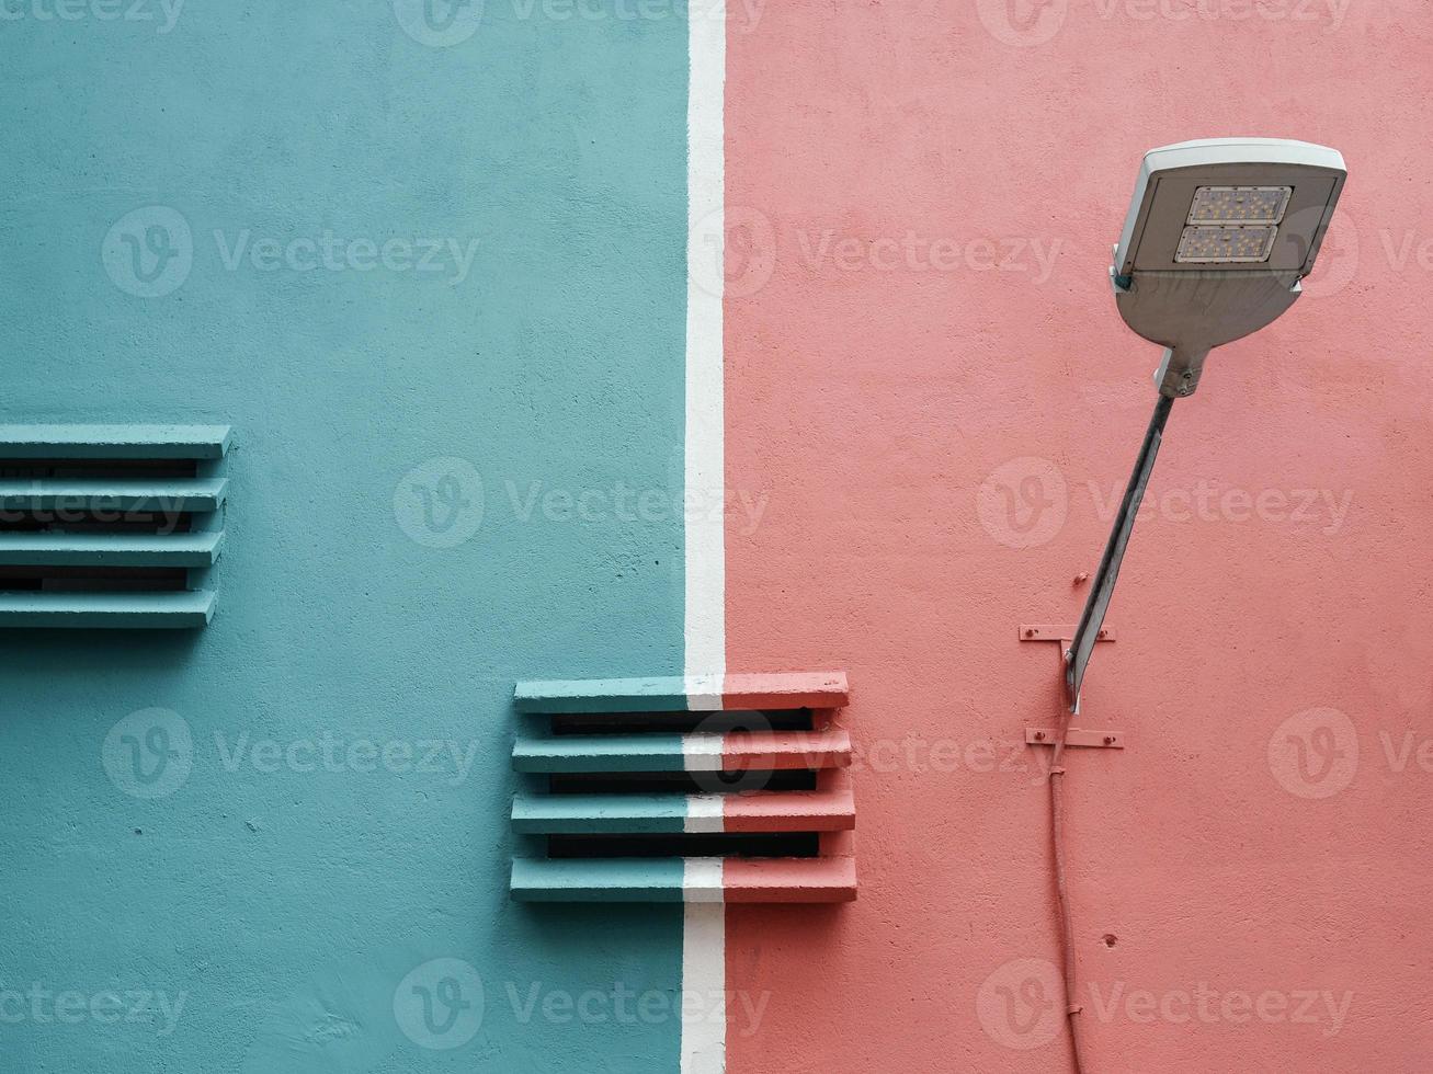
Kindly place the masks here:
MULTIPOLYGON (((721 702, 727 672, 727 453, 722 295, 727 238, 727 3, 688 4, 689 82, 686 95, 686 674, 688 707, 721 702), (715 259, 715 271, 714 262, 715 259)), ((682 908, 684 1002, 682 1074, 725 1074, 727 908, 721 902, 721 862, 689 862, 701 871, 686 885, 682 908), (715 901, 711 898, 715 872, 715 901), (714 1008, 715 1004, 715 1008, 714 1008), (714 1010, 721 1011, 714 1017, 714 1010)))

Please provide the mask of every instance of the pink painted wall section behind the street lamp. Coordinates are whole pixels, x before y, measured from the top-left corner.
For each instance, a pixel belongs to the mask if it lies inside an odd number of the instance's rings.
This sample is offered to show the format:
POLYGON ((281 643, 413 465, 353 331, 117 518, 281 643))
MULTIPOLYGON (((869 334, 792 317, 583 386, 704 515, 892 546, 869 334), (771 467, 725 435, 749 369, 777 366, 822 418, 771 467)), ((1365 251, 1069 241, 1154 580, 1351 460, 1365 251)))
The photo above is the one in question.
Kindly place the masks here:
POLYGON ((1154 402, 1105 272, 1141 155, 1271 135, 1350 179, 1310 294, 1175 407, 1092 664, 1132 748, 1069 756, 1088 1070, 1426 1070, 1433 14, 1010 9, 732 4, 727 483, 770 503, 729 667, 848 669, 868 759, 860 901, 729 911, 770 992, 729 1068, 1066 1068, 1048 790, 1002 770, 1056 650, 1016 629, 1076 619, 1154 402))

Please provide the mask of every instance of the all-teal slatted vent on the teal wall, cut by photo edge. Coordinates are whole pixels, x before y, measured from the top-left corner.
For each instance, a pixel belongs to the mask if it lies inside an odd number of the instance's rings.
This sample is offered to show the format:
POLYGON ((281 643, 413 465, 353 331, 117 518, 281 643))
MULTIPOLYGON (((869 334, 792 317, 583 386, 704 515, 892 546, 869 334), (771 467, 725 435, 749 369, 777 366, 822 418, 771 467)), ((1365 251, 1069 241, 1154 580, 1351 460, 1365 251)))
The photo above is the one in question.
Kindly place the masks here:
POLYGON ((226 425, 0 425, 0 627, 214 616, 226 425))

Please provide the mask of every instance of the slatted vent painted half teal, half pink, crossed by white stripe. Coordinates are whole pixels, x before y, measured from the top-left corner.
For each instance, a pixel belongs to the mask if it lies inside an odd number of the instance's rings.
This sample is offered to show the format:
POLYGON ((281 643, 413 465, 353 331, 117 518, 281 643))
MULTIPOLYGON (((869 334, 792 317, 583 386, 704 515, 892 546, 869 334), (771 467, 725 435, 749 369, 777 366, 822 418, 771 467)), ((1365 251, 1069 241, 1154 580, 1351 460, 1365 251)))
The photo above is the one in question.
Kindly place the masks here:
POLYGON ((844 673, 517 683, 512 896, 856 898, 844 673))

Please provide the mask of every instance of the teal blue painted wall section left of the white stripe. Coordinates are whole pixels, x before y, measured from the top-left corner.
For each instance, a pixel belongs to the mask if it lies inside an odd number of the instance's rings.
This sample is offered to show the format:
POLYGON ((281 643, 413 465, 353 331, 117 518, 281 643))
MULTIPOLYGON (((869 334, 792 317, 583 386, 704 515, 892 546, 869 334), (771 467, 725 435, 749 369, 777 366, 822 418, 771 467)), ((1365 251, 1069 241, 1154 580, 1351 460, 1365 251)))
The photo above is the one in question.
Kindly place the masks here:
POLYGON ((681 908, 510 904, 506 811, 514 679, 682 664, 665 507, 681 493, 685 26, 489 0, 440 49, 377 0, 191 0, 169 33, 7 10, 23 17, 0 21, 0 420, 226 422, 235 447, 206 630, 0 636, 0 1070, 672 1070, 675 1017, 610 997, 678 988, 681 908), (128 248, 105 243, 152 205, 188 222, 192 266, 143 298, 116 284, 128 248), (245 229, 477 246, 459 284, 229 268, 245 229), (441 457, 483 481, 480 526, 451 548, 400 526, 421 534, 406 474, 441 457), (523 520, 533 483, 652 495, 641 513, 589 497, 588 520, 539 500, 523 520), (110 776, 105 742, 150 707, 185 722, 192 753, 173 763, 192 768, 146 799, 110 776), (264 772, 226 753, 325 733, 453 740, 474 763, 466 779, 345 759, 264 772), (420 1047, 394 1012, 438 958, 484 985, 481 1025, 453 1050, 420 1047), (70 1024, 14 998, 36 985, 183 1007, 168 1034, 162 1015, 93 1008, 70 1024), (606 1007, 569 1021, 562 994, 588 990, 606 1007))

